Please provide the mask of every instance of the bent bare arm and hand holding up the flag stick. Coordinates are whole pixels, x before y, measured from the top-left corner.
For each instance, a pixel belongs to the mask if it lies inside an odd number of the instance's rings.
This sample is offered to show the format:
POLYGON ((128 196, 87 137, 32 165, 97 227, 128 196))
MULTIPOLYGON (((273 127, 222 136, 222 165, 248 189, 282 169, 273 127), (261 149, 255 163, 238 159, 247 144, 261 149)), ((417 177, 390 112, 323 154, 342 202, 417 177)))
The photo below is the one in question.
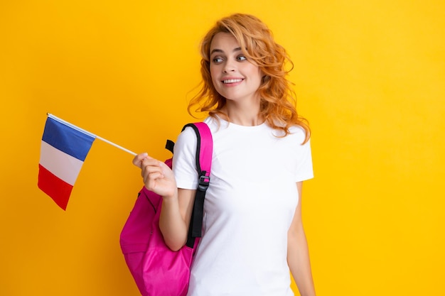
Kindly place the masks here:
POLYGON ((195 190, 178 189, 171 169, 146 153, 136 155, 133 164, 141 168, 145 187, 162 196, 159 228, 168 248, 178 251, 187 241, 195 190))

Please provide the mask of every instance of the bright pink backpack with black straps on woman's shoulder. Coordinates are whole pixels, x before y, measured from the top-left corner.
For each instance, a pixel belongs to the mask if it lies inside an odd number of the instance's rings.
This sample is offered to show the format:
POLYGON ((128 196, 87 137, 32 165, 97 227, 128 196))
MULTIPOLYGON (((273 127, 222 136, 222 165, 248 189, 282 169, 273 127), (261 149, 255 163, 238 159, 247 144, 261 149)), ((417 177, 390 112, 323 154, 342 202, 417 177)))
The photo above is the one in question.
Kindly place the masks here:
MULTIPOLYGON (((125 261, 143 296, 184 296, 187 294, 190 268, 201 236, 204 197, 210 182, 213 139, 203 122, 187 124, 198 137, 196 168, 198 188, 193 204, 186 246, 171 251, 159 229, 162 197, 142 187, 122 229, 120 245, 125 261)), ((167 146, 173 142, 167 142, 167 146)), ((169 150, 173 150, 171 145, 169 150)), ((166 147, 168 148, 168 147, 166 147)), ((166 160, 171 167, 171 159, 166 160)))

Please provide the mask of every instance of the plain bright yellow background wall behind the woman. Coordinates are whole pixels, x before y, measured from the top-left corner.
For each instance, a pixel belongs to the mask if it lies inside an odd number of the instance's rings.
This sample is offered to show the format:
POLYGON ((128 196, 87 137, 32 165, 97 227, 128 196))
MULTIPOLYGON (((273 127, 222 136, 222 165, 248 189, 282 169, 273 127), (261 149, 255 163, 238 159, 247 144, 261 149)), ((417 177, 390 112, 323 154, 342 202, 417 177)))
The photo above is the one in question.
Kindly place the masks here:
POLYGON ((441 0, 1 1, 0 295, 138 295, 119 248, 132 155, 95 141, 63 212, 36 185, 45 114, 166 158, 199 40, 233 12, 295 63, 318 295, 445 295, 441 0))

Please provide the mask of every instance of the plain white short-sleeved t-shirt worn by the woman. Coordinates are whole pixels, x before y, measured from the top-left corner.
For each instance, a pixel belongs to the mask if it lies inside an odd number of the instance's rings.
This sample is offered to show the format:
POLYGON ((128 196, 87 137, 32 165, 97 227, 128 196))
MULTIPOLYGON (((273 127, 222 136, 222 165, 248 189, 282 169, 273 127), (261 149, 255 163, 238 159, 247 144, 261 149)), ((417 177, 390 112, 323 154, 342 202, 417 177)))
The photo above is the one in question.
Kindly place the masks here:
MULTIPOLYGON (((213 136, 203 237, 188 296, 290 296, 287 231, 298 203, 296 182, 313 177, 304 130, 277 138, 267 124, 239 126, 205 119, 213 136)), ((196 136, 176 141, 173 172, 179 188, 196 189, 196 136)))

